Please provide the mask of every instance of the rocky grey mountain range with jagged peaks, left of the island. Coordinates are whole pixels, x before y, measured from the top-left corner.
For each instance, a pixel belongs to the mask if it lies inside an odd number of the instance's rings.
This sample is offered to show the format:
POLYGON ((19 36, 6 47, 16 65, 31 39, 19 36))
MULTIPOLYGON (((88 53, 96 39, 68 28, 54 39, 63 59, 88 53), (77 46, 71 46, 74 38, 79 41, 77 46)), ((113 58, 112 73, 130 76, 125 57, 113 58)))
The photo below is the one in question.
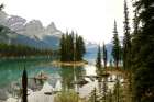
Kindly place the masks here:
POLYGON ((28 22, 21 16, 9 15, 0 11, 0 25, 1 29, 4 27, 3 32, 0 32, 0 39, 3 43, 21 44, 43 49, 58 49, 59 47, 62 32, 56 29, 54 22, 44 27, 38 20, 28 22))

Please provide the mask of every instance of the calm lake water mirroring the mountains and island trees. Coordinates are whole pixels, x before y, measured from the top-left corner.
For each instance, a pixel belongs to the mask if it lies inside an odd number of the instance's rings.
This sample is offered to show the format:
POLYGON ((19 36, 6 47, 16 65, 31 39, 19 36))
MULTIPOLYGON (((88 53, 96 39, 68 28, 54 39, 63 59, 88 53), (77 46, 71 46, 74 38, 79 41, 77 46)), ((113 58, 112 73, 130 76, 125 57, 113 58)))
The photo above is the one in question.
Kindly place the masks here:
MULTIPOLYGON (((101 99, 106 99, 107 93, 113 92, 117 75, 97 77, 100 75, 100 71, 92 65, 80 67, 55 67, 51 65, 52 60, 53 59, 46 58, 0 60, 0 100, 6 97, 8 98, 9 95, 20 98, 21 73, 24 67, 28 70, 28 88, 30 94, 31 91, 33 93, 36 93, 37 91, 48 92, 48 88, 55 92, 58 92, 62 89, 66 91, 73 89, 84 98, 88 97, 96 88, 98 94, 101 94, 101 99), (34 79, 40 72, 47 76, 47 79, 34 79), (82 80, 88 83, 80 84, 79 82, 82 80)), ((123 80, 122 78, 122 76, 119 76, 120 81, 123 80)))

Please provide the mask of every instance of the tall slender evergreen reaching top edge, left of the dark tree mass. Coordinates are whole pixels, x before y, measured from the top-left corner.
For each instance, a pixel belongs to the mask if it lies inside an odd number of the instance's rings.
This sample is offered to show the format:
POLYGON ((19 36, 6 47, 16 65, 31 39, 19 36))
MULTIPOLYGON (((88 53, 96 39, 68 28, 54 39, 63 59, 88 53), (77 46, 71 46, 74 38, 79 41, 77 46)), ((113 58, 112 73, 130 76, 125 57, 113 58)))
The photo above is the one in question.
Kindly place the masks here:
POLYGON ((129 26, 129 11, 124 0, 124 38, 123 38, 123 68, 130 69, 131 63, 131 35, 129 26))

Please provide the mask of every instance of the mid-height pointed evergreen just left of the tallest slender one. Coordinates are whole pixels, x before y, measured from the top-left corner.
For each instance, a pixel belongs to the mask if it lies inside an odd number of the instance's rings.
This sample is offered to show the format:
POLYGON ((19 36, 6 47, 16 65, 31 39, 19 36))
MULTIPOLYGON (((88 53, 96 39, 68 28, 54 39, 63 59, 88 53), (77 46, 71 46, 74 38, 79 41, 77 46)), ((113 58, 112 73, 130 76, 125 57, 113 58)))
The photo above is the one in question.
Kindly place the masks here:
POLYGON ((120 48, 120 42, 118 37, 117 22, 114 21, 112 57, 117 69, 119 67, 119 61, 120 61, 120 50, 121 48, 120 48))

